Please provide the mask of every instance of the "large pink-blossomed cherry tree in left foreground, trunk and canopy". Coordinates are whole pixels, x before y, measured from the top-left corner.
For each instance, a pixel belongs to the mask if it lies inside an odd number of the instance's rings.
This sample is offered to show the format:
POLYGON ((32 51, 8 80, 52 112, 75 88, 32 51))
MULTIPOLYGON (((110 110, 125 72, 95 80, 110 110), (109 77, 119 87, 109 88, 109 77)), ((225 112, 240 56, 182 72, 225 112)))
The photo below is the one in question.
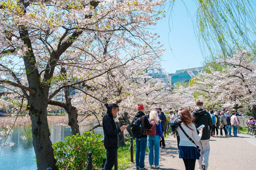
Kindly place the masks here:
POLYGON ((112 55, 98 53, 96 45, 106 44, 105 33, 124 48, 127 42, 147 46, 150 33, 144 28, 159 19, 162 12, 156 7, 161 4, 163 1, 2 1, 0 63, 12 79, 1 72, 0 82, 20 88, 28 101, 38 169, 57 169, 46 117, 49 101, 63 88, 116 69, 112 55), (61 73, 62 67, 68 70, 67 76, 61 73), (79 69, 87 73, 69 76, 79 69), (58 89, 50 94, 52 84, 58 89))

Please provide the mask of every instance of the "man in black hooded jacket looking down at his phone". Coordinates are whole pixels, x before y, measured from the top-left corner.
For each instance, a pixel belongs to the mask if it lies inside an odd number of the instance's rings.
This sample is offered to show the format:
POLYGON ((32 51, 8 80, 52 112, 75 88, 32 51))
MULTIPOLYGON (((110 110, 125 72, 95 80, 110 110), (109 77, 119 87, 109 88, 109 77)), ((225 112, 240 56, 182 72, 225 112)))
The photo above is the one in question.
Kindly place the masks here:
POLYGON ((118 111, 116 104, 105 104, 107 107, 107 114, 103 117, 102 125, 104 132, 104 146, 107 150, 107 159, 104 166, 105 170, 111 170, 115 165, 118 149, 118 134, 124 131, 127 126, 123 125, 121 128, 117 128, 114 121, 114 116, 118 111))

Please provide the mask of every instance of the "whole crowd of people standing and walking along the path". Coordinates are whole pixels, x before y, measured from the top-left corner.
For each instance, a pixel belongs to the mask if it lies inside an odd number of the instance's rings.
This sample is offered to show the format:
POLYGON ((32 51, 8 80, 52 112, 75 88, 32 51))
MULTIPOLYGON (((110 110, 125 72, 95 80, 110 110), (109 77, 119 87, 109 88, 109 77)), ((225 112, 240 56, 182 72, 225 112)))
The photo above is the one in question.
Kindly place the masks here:
MULTIPOLYGON (((127 126, 117 128, 114 116, 118 111, 118 105, 105 104, 107 114, 103 117, 104 146, 107 150, 107 159, 104 169, 111 169, 116 160, 118 148, 118 134, 127 126)), ((173 111, 167 114, 158 107, 147 116, 144 106, 138 106, 131 123, 131 130, 136 143, 135 166, 139 170, 145 168, 146 148, 149 148, 149 167, 159 168, 159 150, 165 149, 164 133, 166 122, 170 120, 172 134, 177 138, 179 158, 183 160, 186 170, 195 169, 198 160, 198 169, 207 169, 209 166, 210 137, 220 135, 237 137, 239 126, 238 114, 235 109, 231 115, 228 109, 225 111, 213 111, 203 109, 203 101, 197 100, 193 111, 178 109, 176 115, 173 111), (233 135, 231 135, 231 126, 233 135), (223 134, 224 131, 224 134, 223 134)), ((255 123, 255 122, 254 122, 255 123)), ((147 169, 146 169, 147 170, 147 169)))

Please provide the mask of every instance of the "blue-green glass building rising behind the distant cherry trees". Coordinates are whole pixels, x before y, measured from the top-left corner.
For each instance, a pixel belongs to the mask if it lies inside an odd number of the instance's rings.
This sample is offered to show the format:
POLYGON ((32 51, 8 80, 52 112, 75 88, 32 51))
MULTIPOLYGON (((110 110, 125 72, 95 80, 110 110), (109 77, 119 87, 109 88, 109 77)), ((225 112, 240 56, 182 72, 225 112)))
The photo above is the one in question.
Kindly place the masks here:
POLYGON ((191 69, 177 70, 175 73, 168 74, 168 82, 171 86, 174 86, 176 83, 185 83, 188 84, 191 79, 188 72, 193 72, 197 74, 204 70, 204 67, 195 67, 191 69))

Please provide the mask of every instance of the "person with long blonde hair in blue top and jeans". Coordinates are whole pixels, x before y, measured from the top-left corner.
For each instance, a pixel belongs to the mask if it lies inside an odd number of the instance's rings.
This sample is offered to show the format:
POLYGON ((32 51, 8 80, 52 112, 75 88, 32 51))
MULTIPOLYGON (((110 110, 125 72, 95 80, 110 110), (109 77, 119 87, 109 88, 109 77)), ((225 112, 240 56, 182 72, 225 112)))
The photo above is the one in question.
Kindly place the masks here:
POLYGON ((156 135, 150 136, 148 135, 148 159, 149 159, 149 167, 153 168, 153 165, 155 165, 155 168, 159 168, 159 142, 163 138, 163 131, 161 122, 159 121, 158 114, 156 111, 151 111, 149 113, 149 122, 155 122, 156 127, 156 135))

